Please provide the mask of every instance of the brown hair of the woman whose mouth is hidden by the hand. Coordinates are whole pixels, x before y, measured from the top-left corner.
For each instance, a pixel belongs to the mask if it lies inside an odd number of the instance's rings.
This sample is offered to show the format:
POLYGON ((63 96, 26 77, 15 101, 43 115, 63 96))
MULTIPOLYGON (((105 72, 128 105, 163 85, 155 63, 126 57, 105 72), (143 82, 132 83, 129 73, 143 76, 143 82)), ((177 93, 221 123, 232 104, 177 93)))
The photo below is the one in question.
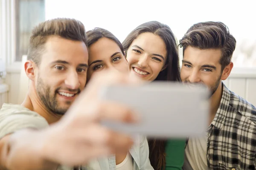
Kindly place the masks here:
POLYGON ((88 47, 93 43, 95 43, 96 41, 98 41, 99 39, 105 37, 116 42, 116 44, 121 49, 122 54, 125 55, 124 48, 121 42, 110 31, 103 28, 94 28, 90 31, 87 31, 86 35, 87 35, 88 47))

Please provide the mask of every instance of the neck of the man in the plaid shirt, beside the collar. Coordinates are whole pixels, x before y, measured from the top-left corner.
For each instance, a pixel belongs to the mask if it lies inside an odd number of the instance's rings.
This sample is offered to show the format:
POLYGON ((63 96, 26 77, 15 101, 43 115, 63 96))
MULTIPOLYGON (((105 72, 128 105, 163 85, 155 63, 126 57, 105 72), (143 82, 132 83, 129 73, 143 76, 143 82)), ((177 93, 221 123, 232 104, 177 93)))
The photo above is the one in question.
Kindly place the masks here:
POLYGON ((218 111, 218 108, 221 102, 221 97, 222 97, 222 90, 223 90, 223 86, 222 86, 222 83, 220 82, 217 90, 210 98, 211 104, 210 104, 209 124, 211 124, 212 120, 216 115, 216 112, 218 111))

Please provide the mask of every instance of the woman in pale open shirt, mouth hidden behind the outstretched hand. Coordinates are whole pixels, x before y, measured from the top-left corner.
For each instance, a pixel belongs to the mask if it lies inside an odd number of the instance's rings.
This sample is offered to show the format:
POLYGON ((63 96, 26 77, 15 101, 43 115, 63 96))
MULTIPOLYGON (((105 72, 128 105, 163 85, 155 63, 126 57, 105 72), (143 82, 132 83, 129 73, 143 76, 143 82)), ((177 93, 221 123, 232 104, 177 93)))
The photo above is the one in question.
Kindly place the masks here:
MULTIPOLYGON (((121 42, 108 30, 95 28, 87 31, 89 48, 87 80, 104 71, 119 71, 129 74, 121 42)), ((125 153, 115 153, 91 161, 89 170, 154 170, 149 161, 148 142, 145 136, 137 136, 134 146, 125 153)))

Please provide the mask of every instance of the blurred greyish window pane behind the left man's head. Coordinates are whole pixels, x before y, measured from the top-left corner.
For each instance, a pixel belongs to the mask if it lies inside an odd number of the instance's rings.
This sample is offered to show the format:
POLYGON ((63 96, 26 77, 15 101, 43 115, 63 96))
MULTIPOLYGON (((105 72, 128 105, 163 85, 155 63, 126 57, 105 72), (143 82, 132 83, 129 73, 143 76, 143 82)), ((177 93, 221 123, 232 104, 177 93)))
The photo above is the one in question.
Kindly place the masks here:
POLYGON ((16 58, 27 54, 31 30, 45 21, 45 0, 15 0, 16 58))

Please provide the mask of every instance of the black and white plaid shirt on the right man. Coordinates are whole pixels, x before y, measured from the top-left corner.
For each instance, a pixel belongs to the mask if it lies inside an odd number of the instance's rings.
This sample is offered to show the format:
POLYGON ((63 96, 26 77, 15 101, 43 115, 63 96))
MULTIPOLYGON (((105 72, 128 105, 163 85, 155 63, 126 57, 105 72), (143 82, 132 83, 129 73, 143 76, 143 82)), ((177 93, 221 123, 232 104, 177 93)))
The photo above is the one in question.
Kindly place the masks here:
POLYGON ((256 108, 222 85, 220 106, 208 129, 208 169, 256 170, 256 108))

